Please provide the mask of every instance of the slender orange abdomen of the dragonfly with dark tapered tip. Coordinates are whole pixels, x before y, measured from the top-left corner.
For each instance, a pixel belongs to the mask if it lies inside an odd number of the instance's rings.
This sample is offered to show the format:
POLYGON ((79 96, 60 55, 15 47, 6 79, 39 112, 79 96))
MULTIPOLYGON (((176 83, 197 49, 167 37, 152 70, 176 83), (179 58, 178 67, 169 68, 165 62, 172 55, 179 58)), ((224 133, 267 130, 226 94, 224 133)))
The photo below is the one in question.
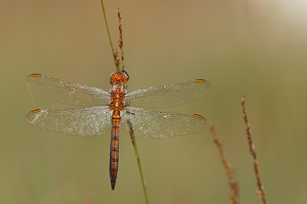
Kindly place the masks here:
POLYGON ((115 188, 119 160, 120 110, 115 108, 112 114, 111 149, 110 149, 110 179, 112 190, 115 188))

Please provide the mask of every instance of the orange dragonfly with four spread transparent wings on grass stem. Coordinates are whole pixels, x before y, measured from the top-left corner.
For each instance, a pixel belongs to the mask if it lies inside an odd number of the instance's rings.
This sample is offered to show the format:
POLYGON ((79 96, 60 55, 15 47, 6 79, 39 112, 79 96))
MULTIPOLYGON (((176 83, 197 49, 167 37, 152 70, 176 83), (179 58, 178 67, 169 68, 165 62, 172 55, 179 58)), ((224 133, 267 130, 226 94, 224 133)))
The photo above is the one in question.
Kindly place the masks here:
POLYGON ((206 80, 193 80, 170 86, 150 87, 126 92, 126 71, 111 74, 112 88, 73 84, 42 74, 30 74, 26 85, 35 92, 63 104, 89 106, 77 109, 37 109, 26 122, 43 130, 64 135, 94 136, 111 129, 109 172, 115 188, 119 162, 120 129, 135 137, 158 139, 188 135, 207 129, 208 121, 196 114, 167 113, 143 108, 167 108, 188 103, 212 90, 206 80))

